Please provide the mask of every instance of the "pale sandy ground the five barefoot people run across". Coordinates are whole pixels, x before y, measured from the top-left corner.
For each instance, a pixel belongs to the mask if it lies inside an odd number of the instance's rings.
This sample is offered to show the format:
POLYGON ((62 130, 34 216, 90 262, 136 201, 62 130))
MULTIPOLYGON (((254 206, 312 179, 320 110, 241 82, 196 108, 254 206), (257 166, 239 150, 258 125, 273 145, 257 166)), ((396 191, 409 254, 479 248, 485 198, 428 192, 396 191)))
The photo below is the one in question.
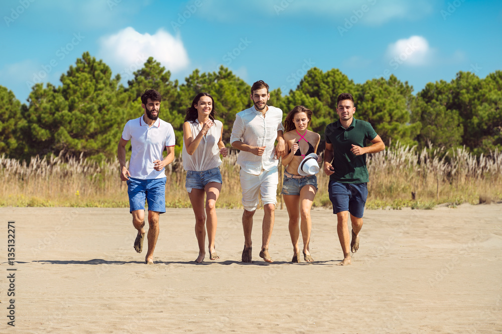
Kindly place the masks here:
POLYGON ((129 209, 0 208, 1 331, 502 331, 502 204, 366 210, 360 248, 344 267, 336 265, 342 252, 330 210, 312 210, 313 264, 289 262, 286 210, 276 211, 271 264, 258 256, 263 210, 254 220, 254 262, 245 264, 242 211, 217 214, 219 260, 195 264, 193 211, 168 209, 156 264, 145 265, 145 250, 133 249, 129 209), (15 327, 7 324, 10 298, 15 327))

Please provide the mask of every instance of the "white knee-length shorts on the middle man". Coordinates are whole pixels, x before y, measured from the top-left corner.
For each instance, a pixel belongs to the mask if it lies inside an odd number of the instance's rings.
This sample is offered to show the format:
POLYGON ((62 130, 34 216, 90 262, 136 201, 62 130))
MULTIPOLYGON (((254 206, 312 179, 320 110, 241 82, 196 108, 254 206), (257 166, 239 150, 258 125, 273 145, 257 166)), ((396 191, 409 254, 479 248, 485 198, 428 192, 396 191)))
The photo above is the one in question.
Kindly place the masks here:
POLYGON ((262 203, 277 203, 277 185, 279 173, 277 167, 264 170, 260 175, 254 175, 240 170, 240 186, 242 188, 242 206, 247 211, 255 211, 258 207, 258 191, 262 195, 262 203))

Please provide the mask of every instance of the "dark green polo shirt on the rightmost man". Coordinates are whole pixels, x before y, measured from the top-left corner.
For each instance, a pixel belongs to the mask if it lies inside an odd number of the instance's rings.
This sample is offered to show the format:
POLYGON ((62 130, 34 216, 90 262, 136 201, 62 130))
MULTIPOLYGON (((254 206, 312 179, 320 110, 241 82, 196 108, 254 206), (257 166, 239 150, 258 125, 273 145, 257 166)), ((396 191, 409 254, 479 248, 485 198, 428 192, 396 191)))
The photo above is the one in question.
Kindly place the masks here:
POLYGON ((333 168, 335 172, 329 176, 331 181, 342 183, 365 183, 369 181, 366 168, 366 155, 355 156, 350 149, 352 144, 365 147, 366 140, 373 140, 376 132, 371 124, 352 119, 352 124, 345 129, 340 121, 328 124, 324 131, 326 143, 333 145, 333 168))

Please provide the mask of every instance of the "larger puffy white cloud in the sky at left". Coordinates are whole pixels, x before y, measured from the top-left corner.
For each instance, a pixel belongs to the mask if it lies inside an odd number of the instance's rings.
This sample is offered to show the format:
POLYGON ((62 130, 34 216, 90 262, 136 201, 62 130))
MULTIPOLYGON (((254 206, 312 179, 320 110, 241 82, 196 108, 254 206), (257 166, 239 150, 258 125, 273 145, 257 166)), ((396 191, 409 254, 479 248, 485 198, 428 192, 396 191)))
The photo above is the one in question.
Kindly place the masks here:
POLYGON ((99 40, 98 57, 105 63, 124 70, 131 67, 141 68, 149 57, 153 57, 171 72, 185 69, 188 54, 180 36, 172 36, 163 29, 154 35, 140 34, 128 27, 99 40))

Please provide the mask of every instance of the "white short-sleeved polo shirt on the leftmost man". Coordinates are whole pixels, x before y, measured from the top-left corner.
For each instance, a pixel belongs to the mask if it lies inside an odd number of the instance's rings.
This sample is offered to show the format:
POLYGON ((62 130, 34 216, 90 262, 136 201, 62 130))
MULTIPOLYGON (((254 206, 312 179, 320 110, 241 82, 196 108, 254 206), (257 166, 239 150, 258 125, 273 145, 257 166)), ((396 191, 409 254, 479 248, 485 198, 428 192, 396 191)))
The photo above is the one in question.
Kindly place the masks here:
POLYGON ((164 146, 175 145, 173 126, 158 118, 152 126, 148 126, 140 118, 130 120, 124 126, 122 139, 131 140, 131 162, 129 172, 135 179, 160 179, 166 177, 165 168, 160 171, 154 169, 155 160, 164 160, 162 152, 164 146))

